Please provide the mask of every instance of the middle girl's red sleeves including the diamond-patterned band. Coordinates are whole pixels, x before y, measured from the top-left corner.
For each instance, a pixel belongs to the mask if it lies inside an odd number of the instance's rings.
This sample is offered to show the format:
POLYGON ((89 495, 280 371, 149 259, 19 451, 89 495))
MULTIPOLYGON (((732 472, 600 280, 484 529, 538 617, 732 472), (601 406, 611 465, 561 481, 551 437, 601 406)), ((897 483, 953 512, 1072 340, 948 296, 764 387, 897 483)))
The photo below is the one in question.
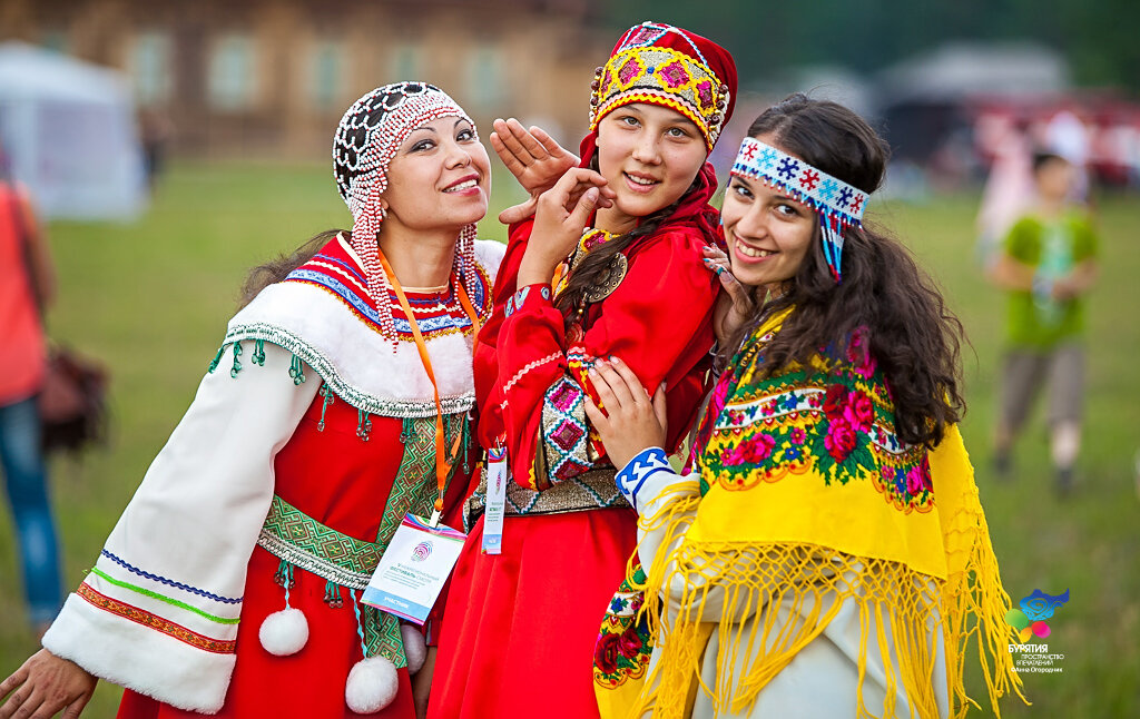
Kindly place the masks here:
MULTIPOLYGON (((529 236, 529 227, 526 230, 529 236)), ((542 490, 602 463, 603 450, 591 438, 584 405, 584 393, 593 392, 586 378, 593 357, 620 357, 650 393, 666 383, 666 449, 677 448, 705 392, 714 342, 717 285, 703 264, 701 248, 707 244, 695 228, 675 226, 629 251, 625 277, 612 294, 588 305, 585 333, 572 346, 549 287, 521 288, 522 302, 518 295, 506 297, 495 354, 498 411, 515 482, 542 490), (536 472, 539 452, 545 471, 536 472)), ((516 245, 513 278, 524 250, 524 243, 516 245)))

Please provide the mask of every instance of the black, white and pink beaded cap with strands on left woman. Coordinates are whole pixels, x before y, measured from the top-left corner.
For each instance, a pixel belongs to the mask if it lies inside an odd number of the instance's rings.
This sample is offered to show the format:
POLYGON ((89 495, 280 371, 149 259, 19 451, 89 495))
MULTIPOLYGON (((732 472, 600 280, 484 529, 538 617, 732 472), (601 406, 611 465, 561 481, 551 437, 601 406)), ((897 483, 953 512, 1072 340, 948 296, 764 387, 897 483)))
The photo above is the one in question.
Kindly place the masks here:
MULTIPOLYGON (((440 117, 462 117, 475 123, 446 92, 424 82, 397 82, 376 88, 349 107, 333 138, 333 178, 352 213, 350 244, 364 263, 368 296, 380 313, 381 330, 396 340, 389 292, 391 285, 380 265, 378 235, 385 211, 380 195, 388 189, 388 165, 416 128, 440 117)), ((458 283, 475 285, 475 226, 459 231, 455 253, 455 291, 458 283)), ((393 345, 394 346, 394 345, 393 345)))

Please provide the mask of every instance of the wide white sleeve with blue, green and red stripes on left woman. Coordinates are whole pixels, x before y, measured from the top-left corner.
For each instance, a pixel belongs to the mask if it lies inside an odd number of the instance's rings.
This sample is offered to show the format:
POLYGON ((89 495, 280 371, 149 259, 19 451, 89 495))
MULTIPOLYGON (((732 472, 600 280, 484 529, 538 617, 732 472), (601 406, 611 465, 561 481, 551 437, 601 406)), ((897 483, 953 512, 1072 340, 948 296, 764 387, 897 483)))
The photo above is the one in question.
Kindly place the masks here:
MULTIPOLYGON (((244 350, 249 358, 252 343, 244 350)), ((219 647, 237 637, 274 457, 319 384, 295 386, 290 353, 264 351, 263 367, 245 362, 237 377, 219 369, 202 381, 80 587, 107 608, 71 595, 43 638, 50 652, 173 706, 221 709, 236 654, 219 647)))

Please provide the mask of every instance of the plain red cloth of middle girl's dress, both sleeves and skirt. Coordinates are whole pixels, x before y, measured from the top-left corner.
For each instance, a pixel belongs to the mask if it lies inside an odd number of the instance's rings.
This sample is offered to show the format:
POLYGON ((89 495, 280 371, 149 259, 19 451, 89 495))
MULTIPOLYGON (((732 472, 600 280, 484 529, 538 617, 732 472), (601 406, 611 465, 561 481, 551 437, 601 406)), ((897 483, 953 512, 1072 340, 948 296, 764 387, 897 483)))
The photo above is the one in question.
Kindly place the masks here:
MULTIPOLYGON (((522 479, 534 466, 544 394, 567 371, 569 349, 562 313, 539 286, 505 317, 530 230, 529 221, 512 228, 495 311, 475 354, 479 438, 490 446, 506 436, 512 472, 522 479)), ((716 278, 702 262, 706 237, 695 223, 676 222, 627 250, 625 279, 585 317, 585 352, 620 357, 646 387, 666 383, 670 450, 706 391, 717 296, 716 278)), ((503 554, 490 556, 480 551, 480 521, 453 578, 429 717, 597 716, 587 664, 605 604, 635 548, 635 528, 628 509, 511 516, 503 554), (532 672, 534 681, 520 688, 519 667, 552 670, 532 672)))

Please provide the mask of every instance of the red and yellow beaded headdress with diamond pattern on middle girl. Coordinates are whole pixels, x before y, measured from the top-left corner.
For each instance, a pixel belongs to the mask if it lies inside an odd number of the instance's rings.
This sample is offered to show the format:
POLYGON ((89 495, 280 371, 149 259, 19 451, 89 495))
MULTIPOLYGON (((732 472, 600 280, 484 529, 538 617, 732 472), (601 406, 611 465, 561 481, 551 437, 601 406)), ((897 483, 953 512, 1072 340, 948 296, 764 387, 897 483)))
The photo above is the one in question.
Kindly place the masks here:
POLYGON ((622 105, 649 103, 677 111, 695 124, 711 150, 720 136, 728 85, 709 70, 708 62, 689 38, 671 25, 644 23, 598 67, 591 83, 589 129, 597 130, 608 113, 622 105), (675 33, 692 55, 653 43, 675 33), (695 57, 693 57, 695 56, 695 57))

